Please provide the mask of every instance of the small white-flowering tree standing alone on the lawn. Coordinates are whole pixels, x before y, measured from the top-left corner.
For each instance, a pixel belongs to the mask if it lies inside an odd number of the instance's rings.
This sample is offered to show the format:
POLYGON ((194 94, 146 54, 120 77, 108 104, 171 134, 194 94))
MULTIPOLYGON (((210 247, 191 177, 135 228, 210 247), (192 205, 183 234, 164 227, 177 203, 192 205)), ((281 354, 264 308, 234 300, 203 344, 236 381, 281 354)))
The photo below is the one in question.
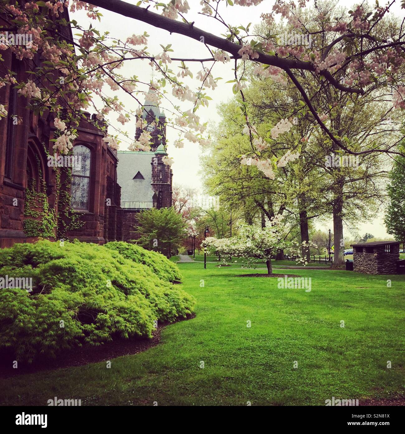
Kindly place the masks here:
MULTIPOLYGON (((210 253, 218 253, 225 260, 232 256, 246 259, 249 268, 255 265, 255 260, 266 262, 267 273, 272 274, 272 256, 277 250, 283 249, 297 262, 307 265, 301 254, 298 243, 288 241, 288 230, 282 225, 282 216, 273 217, 266 222, 265 227, 257 225, 242 225, 239 233, 230 238, 208 237, 203 241, 204 248, 210 253)), ((303 242, 306 245, 306 241, 303 242)))

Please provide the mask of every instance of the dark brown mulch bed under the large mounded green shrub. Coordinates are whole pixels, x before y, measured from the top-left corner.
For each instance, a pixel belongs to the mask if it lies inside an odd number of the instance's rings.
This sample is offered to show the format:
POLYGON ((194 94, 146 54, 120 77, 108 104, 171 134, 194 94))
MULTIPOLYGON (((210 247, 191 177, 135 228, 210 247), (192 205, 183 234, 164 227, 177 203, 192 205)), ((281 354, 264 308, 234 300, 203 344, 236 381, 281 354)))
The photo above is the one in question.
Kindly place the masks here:
MULTIPOLYGON (((192 319, 195 314, 188 316, 185 319, 192 319)), ((185 319, 179 319, 184 321, 185 319)), ((13 368, 12 355, 1 355, 0 358, 0 378, 13 377, 15 375, 32 374, 39 371, 49 371, 70 366, 81 366, 89 363, 105 362, 113 358, 123 355, 133 355, 141 351, 145 351, 159 344, 162 330, 169 324, 173 323, 158 323, 158 328, 154 331, 152 339, 148 338, 133 338, 133 339, 113 339, 111 342, 106 342, 103 345, 92 346, 83 345, 69 351, 58 353, 56 358, 42 359, 31 364, 26 362, 18 362, 18 368, 13 368)))

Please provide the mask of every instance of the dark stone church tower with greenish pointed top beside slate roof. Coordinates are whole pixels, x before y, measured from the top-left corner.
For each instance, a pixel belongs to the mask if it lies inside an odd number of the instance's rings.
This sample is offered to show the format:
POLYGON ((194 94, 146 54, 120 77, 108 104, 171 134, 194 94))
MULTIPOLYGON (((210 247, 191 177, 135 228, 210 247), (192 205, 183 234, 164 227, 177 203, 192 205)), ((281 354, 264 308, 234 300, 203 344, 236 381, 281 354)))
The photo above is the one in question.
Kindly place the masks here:
MULTIPOLYGON (((152 143, 150 145, 152 156, 152 200, 153 207, 159 209, 172 206, 173 171, 168 164, 163 163, 163 158, 167 156, 166 115, 159 106, 151 102, 149 95, 152 92, 152 90, 149 90, 148 94, 146 94, 142 118, 146 121, 145 130, 149 131, 152 136, 152 143)), ((136 140, 139 139, 141 133, 142 129, 137 127, 135 133, 136 140)))

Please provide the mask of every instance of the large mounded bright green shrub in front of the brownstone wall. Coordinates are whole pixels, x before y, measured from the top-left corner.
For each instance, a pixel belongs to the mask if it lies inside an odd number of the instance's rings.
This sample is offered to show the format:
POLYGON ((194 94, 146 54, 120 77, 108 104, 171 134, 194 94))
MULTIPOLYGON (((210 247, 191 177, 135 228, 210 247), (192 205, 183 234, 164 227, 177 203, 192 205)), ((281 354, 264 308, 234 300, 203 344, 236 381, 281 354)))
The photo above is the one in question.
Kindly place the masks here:
POLYGON ((137 254, 127 253, 127 259, 108 244, 47 240, 0 250, 1 277, 32 278, 31 293, 0 289, 0 352, 31 362, 114 336, 151 337, 155 320, 173 322, 191 313, 193 297, 169 282, 179 278, 175 264, 165 258, 155 273, 153 252, 116 244, 137 254))

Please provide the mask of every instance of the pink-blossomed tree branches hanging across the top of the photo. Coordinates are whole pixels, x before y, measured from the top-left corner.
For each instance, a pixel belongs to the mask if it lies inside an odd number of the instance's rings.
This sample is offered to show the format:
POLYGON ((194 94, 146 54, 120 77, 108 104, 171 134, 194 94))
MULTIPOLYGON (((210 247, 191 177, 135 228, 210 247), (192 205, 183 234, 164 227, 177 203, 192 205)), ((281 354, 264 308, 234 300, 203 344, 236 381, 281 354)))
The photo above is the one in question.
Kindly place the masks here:
MULTIPOLYGON (((199 107, 209 104, 211 97, 208 93, 217 87, 220 80, 214 76, 215 65, 229 63, 235 77, 230 85, 239 95, 240 115, 246 124, 244 131, 252 146, 251 155, 241 156, 242 164, 256 165, 266 176, 273 178, 275 170, 298 158, 298 144, 281 157, 264 158, 261 151, 277 145, 280 136, 294 128, 293 119, 304 112, 311 116, 314 125, 321 128, 326 140, 348 154, 382 152, 404 155, 405 150, 400 146, 370 146, 359 151, 347 140, 344 132, 334 130, 333 123, 329 122, 329 112, 318 113, 312 104, 320 92, 330 92, 338 103, 342 92, 361 96, 364 89, 373 87, 376 92, 383 89, 392 100, 393 109, 405 109, 403 23, 400 20, 391 23, 389 38, 379 36, 380 26, 399 1, 393 0, 384 6, 380 6, 378 1, 373 6, 363 2, 339 16, 330 16, 327 5, 311 0, 201 0, 192 2, 192 11, 187 0, 140 0, 136 5, 122 0, 92 0, 91 3, 78 0, 27 1, 23 5, 18 1, 0 0, 0 14, 7 23, 0 29, 0 34, 11 32, 32 37, 32 42, 26 46, 9 44, 4 37, 0 39, 0 61, 3 60, 2 52, 11 50, 25 63, 29 72, 29 79, 19 80, 13 71, 1 67, 0 87, 13 85, 19 89, 20 95, 29 98, 32 110, 54 114, 55 125, 61 127, 55 150, 64 154, 72 147, 80 120, 97 124, 96 120, 85 117, 83 112, 89 108, 97 112, 97 119, 104 119, 106 124, 102 125, 111 127, 110 135, 104 139, 111 148, 117 149, 120 141, 128 139, 130 150, 148 150, 151 141, 148 131, 132 142, 122 131, 113 134, 114 127, 109 124, 109 117, 113 115, 118 114, 117 121, 122 125, 138 115, 137 126, 144 127, 139 113, 142 113, 141 101, 146 94, 150 104, 165 105, 166 122, 179 133, 174 143, 176 147, 182 148, 184 141, 204 146, 209 143, 209 137, 197 112, 199 107), (246 23, 228 22, 229 8, 236 5, 256 7, 259 3, 268 4, 268 12, 260 16, 262 23, 271 26, 279 17, 288 29, 306 35, 307 39, 309 36, 316 38, 318 43, 314 46, 290 44, 287 38, 279 38, 279 35, 256 34, 246 23), (66 22, 65 9, 71 13, 70 22, 66 22), (147 33, 128 35, 121 40, 97 30, 94 25, 85 28, 75 20, 75 11, 85 10, 96 23, 102 20, 100 9, 183 35, 185 39, 197 40, 206 47, 207 57, 178 57, 171 44, 163 43, 159 52, 152 53, 148 49, 147 33), (188 20, 190 12, 197 13, 193 16, 197 16, 201 23, 188 20), (308 17, 316 18, 311 26, 307 26, 308 17), (209 28, 212 20, 223 26, 223 35, 202 30, 209 28), (71 39, 59 36, 58 28, 61 26, 71 27, 71 39), (40 64, 34 61, 36 54, 40 56, 40 64), (147 83, 136 74, 123 76, 120 69, 127 62, 135 62, 134 71, 149 67, 154 71, 154 80, 147 83), (254 73, 261 79, 280 84, 291 82, 301 94, 300 104, 291 107, 289 116, 269 127, 271 140, 263 140, 249 119, 249 105, 243 94, 247 63, 253 65, 254 73), (198 66, 194 76, 200 84, 192 89, 188 80, 193 78, 191 69, 195 69, 194 66, 198 66), (109 96, 110 90, 114 96, 109 96), (122 93, 133 98, 134 107, 124 106, 120 99, 122 93), (189 109, 183 111, 173 104, 168 98, 170 94, 174 99, 189 102, 189 109)), ((401 7, 405 7, 403 0, 401 7)), ((330 110, 332 107, 333 104, 330 110)), ((6 116, 7 107, 0 105, 0 119, 6 116)), ((165 160, 166 164, 172 162, 169 158, 165 160)))

